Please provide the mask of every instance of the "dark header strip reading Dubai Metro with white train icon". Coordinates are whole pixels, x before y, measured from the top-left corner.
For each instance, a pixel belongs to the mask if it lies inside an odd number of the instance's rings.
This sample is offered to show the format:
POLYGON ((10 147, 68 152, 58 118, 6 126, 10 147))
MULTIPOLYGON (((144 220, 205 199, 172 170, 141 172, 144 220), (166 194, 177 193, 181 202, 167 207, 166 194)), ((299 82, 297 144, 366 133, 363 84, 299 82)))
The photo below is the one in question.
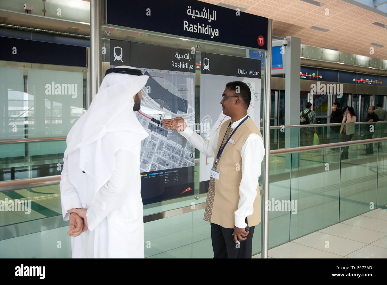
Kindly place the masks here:
POLYGON ((261 78, 261 60, 202 52, 200 72, 204 74, 261 78))

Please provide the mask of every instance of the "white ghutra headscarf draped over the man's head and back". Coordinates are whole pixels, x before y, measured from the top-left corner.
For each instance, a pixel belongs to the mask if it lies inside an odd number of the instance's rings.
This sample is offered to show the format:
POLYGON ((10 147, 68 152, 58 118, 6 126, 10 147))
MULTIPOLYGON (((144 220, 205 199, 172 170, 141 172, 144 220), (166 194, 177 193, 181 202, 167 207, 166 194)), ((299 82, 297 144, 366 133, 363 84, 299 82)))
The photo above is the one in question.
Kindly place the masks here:
MULTIPOLYGON (((117 68, 133 69, 130 66, 117 68)), ((82 191, 86 188, 85 174, 92 178, 96 193, 111 177, 116 151, 133 147, 148 136, 133 111, 133 96, 148 78, 107 74, 89 109, 68 133, 63 160, 67 159, 68 179, 77 189, 82 206, 86 204, 86 193, 82 191)), ((87 196, 94 193, 87 193, 87 196)))

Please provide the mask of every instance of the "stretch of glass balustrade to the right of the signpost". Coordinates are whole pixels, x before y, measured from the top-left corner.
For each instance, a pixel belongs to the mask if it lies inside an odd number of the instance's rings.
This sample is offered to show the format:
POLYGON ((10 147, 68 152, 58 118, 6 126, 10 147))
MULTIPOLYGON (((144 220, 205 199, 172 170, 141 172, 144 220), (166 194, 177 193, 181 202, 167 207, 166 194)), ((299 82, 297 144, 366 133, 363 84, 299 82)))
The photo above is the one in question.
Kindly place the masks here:
POLYGON ((289 154, 282 164, 275 164, 281 155, 272 155, 271 169, 283 178, 270 173, 269 248, 387 209, 387 143, 372 147, 369 155, 366 144, 289 154))

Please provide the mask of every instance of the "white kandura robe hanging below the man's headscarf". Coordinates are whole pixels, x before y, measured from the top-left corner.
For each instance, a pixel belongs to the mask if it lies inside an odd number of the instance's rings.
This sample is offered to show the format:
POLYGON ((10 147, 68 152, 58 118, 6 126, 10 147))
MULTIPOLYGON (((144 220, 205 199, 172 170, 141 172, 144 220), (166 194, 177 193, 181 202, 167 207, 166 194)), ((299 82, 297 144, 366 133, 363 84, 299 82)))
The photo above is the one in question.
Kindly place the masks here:
MULTIPOLYGON (((118 150, 115 158, 112 176, 94 197, 93 208, 88 204, 93 200, 87 199, 86 208, 90 207, 87 211, 89 229, 78 237, 71 237, 73 258, 144 258, 140 143, 130 149, 118 150), (118 209, 105 215, 110 208, 116 207, 118 209)), ((78 192, 68 180, 67 173, 65 162, 61 180, 62 212, 82 208, 78 192)), ((84 177, 86 192, 92 191, 92 177, 87 174, 84 177)))

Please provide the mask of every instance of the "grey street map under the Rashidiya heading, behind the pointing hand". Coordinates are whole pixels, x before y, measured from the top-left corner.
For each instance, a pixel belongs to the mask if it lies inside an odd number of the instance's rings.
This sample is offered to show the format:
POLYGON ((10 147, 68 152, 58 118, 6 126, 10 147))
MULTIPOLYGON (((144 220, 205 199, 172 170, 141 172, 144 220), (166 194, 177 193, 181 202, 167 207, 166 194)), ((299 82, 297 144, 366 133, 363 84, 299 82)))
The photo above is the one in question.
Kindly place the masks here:
MULTIPOLYGON (((138 68, 138 67, 137 67, 138 68)), ((141 173, 194 166, 195 148, 159 122, 183 117, 195 122, 195 73, 138 68, 149 79, 136 117, 149 136, 141 142, 141 173)))

